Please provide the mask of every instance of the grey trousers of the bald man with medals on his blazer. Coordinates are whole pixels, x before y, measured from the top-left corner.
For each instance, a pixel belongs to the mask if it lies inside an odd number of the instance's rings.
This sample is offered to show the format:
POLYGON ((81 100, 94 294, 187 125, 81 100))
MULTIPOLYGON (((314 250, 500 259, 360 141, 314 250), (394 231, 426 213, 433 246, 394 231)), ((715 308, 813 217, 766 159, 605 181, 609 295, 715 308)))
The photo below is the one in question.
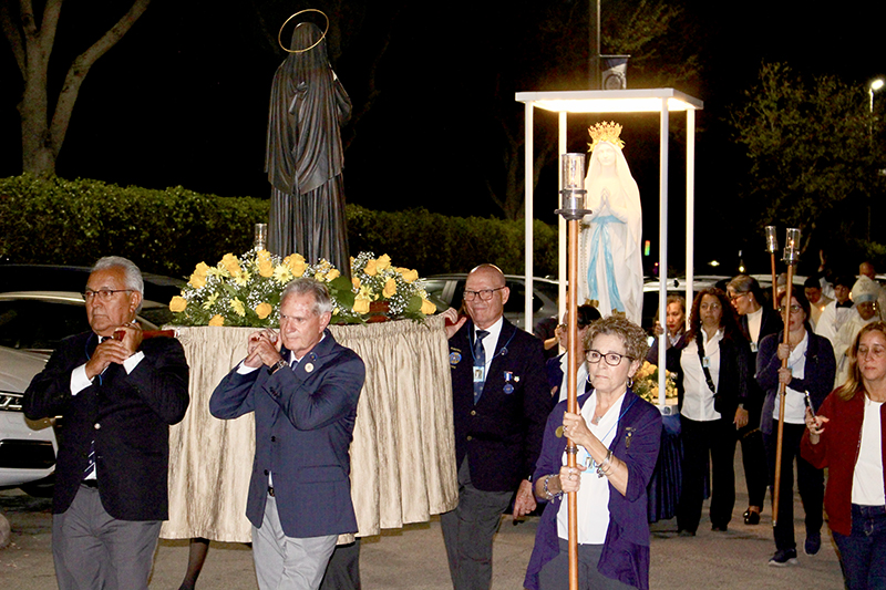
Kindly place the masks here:
POLYGON ((459 506, 440 516, 455 590, 492 586, 492 540, 513 491, 483 491, 471 484, 467 457, 459 467, 459 506))

